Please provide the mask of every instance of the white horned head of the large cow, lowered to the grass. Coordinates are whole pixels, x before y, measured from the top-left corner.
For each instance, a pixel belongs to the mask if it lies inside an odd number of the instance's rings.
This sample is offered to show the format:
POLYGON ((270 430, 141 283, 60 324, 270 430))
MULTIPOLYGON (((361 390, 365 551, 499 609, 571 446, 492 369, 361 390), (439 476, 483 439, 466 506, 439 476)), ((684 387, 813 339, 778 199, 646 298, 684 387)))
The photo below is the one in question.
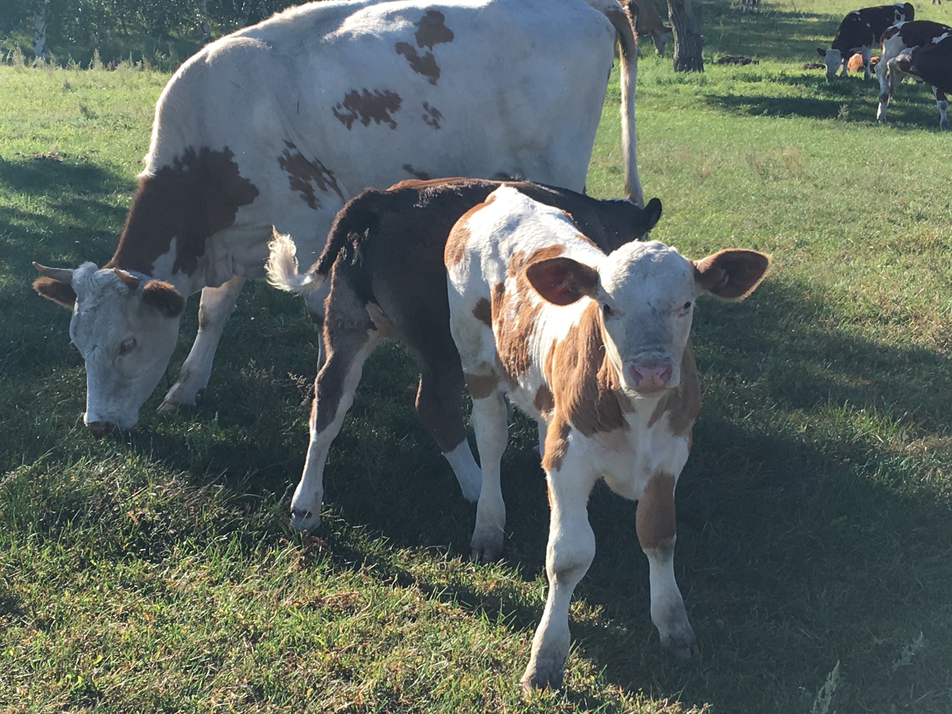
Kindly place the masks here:
POLYGON ((72 309, 69 337, 86 360, 86 413, 95 436, 128 429, 175 348, 185 298, 168 283, 119 268, 33 266, 33 288, 72 309))

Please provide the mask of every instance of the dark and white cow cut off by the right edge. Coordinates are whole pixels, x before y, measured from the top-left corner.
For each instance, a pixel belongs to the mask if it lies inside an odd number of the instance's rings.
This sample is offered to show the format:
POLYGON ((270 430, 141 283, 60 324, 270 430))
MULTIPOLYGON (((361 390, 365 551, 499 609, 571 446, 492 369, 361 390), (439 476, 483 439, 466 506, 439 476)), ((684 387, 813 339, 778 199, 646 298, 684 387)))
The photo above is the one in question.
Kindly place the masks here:
POLYGON ((952 91, 952 27, 929 20, 902 23, 883 32, 883 54, 876 67, 880 106, 876 118, 886 122, 886 108, 905 77, 932 87, 939 109, 939 128, 948 129, 948 100, 952 91))

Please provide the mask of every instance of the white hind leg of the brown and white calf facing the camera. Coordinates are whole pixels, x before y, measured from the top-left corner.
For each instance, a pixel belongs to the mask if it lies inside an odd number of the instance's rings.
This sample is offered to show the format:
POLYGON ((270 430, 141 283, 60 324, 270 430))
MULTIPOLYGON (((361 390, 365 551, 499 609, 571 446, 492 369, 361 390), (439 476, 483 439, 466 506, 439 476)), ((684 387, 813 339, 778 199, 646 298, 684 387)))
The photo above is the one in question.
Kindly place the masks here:
POLYGON ((478 377, 466 374, 473 397, 470 421, 476 432, 476 446, 479 448, 479 460, 483 471, 483 485, 480 488, 479 503, 476 505, 476 527, 469 542, 472 558, 475 561, 497 560, 503 554, 503 536, 506 529, 506 503, 499 483, 500 461, 506 450, 508 429, 506 428, 506 400, 495 387, 486 393, 475 387, 479 380, 491 380, 495 377, 478 377))

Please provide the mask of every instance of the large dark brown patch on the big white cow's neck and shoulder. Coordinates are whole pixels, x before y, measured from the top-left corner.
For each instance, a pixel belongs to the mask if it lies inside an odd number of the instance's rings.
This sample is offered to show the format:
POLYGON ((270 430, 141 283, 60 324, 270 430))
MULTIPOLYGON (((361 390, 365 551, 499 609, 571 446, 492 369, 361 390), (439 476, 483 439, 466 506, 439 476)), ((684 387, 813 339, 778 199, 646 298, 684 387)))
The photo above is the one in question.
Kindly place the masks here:
POLYGON ((191 275, 208 237, 231 226, 238 208, 257 195, 258 188, 241 175, 228 147, 186 149, 169 166, 142 179, 119 245, 103 268, 150 275, 175 238, 172 272, 191 275))

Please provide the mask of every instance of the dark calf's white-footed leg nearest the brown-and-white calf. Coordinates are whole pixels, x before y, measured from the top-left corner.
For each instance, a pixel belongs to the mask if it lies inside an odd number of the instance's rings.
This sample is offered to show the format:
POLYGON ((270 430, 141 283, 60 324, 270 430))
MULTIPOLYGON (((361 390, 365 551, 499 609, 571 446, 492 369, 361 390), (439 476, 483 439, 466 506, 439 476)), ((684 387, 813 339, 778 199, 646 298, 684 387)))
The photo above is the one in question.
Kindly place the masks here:
POLYGON ((463 368, 458 356, 421 365, 417 413, 456 474, 463 497, 474 503, 479 499, 482 473, 466 441, 466 427, 460 415, 462 396, 463 368))

